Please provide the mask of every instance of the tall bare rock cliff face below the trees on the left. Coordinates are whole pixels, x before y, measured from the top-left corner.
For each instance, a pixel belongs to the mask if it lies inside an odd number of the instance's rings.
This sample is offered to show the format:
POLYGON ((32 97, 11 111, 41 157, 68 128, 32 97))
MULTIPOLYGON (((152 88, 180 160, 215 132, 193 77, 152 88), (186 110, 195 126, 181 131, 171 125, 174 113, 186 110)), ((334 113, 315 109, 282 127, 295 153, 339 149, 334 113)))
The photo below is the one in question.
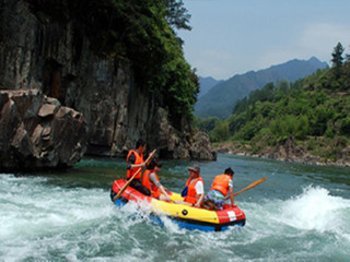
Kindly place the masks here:
POLYGON ((0 88, 36 88, 80 111, 89 154, 125 156, 142 138, 160 157, 215 159, 206 134, 172 127, 130 63, 95 55, 77 25, 34 15, 25 1, 3 0, 0 12, 0 88))

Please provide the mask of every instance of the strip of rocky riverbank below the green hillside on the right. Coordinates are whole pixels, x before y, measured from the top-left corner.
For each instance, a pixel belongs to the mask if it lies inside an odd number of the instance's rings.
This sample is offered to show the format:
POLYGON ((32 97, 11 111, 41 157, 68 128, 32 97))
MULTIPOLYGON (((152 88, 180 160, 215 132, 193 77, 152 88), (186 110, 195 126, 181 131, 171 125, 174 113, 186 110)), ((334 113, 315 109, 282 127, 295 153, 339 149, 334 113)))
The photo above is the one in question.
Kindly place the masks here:
POLYGON ((310 165, 350 167, 350 146, 338 152, 336 160, 324 160, 319 156, 312 155, 302 145, 296 145, 294 138, 289 138, 284 143, 276 147, 264 147, 259 152, 253 152, 249 145, 235 143, 221 143, 217 147, 218 153, 272 158, 283 162, 295 162, 310 165))

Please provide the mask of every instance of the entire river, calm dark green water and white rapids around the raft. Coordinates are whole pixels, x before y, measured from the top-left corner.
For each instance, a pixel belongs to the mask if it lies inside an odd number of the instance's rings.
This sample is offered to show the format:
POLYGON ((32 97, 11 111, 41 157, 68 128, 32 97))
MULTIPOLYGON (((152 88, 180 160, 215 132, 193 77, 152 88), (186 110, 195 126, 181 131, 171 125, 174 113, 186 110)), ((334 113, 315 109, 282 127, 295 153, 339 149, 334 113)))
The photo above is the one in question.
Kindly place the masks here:
POLYGON ((246 225, 223 233, 179 229, 109 200, 125 160, 85 158, 65 172, 0 176, 0 261, 349 261, 349 168, 220 154, 217 162, 164 160, 162 183, 180 192, 199 164, 206 192, 235 171, 246 225))

